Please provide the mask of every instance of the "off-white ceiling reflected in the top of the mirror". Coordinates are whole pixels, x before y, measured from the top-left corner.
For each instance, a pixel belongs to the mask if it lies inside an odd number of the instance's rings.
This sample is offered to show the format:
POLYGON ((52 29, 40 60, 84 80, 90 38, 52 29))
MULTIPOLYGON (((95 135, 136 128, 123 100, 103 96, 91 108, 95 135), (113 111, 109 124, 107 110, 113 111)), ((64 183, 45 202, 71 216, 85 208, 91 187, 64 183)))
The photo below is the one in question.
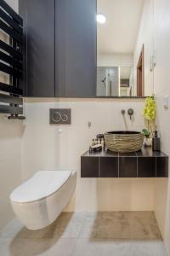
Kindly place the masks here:
POLYGON ((98 24, 99 54, 133 54, 144 0, 97 0, 97 13, 106 17, 98 24))

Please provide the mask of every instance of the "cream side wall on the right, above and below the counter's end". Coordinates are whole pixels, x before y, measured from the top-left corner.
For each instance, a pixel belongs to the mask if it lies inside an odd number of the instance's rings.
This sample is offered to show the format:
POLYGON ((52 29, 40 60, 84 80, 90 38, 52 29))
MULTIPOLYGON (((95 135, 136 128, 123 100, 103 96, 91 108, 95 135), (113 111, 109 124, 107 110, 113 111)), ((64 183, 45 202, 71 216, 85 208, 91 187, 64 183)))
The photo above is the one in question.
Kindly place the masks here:
MULTIPOLYGON (((163 151, 170 156, 170 109, 163 108, 163 97, 170 97, 170 2, 154 0, 156 68, 154 72, 157 101, 157 123, 163 151)), ((170 255, 170 184, 169 179, 156 179, 156 218, 170 255)))

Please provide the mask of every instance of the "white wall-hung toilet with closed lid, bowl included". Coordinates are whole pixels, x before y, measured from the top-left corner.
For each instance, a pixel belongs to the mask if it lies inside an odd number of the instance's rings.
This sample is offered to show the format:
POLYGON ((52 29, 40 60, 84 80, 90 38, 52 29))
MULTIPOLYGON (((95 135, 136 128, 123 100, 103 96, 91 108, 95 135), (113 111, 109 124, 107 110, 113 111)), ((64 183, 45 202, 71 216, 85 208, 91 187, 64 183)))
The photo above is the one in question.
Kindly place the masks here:
POLYGON ((75 171, 39 171, 10 195, 14 213, 29 230, 42 229, 65 208, 76 182, 75 171))

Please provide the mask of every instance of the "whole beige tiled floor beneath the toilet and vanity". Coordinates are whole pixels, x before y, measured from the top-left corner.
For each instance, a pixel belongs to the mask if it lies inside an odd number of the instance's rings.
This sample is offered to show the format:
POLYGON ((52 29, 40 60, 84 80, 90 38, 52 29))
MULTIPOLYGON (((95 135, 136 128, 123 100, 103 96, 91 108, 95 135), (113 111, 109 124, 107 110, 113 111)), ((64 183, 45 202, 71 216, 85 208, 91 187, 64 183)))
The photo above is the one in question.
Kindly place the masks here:
POLYGON ((166 256, 153 212, 63 212, 43 230, 14 219, 0 256, 166 256))

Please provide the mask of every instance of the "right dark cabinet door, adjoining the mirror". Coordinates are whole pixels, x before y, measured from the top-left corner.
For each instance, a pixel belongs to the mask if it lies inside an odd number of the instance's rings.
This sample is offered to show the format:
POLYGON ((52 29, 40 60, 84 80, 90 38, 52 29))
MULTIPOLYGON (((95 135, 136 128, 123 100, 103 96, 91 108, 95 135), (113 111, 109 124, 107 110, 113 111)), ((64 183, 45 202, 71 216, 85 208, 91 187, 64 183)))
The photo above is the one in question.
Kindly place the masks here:
POLYGON ((96 0, 55 0, 55 94, 96 94, 96 0))

